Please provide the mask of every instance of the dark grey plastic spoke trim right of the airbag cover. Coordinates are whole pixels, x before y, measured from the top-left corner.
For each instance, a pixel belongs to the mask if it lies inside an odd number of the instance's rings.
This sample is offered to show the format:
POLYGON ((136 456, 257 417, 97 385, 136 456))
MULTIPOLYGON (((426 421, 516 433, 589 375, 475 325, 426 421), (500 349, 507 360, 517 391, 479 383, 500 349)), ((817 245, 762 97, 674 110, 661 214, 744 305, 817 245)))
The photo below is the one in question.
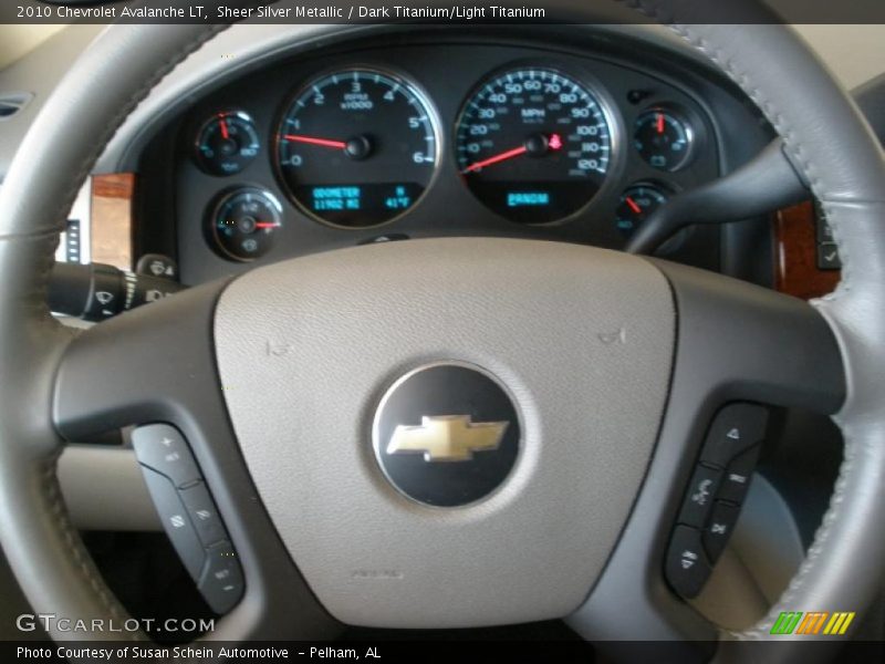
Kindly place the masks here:
POLYGON ((712 654, 716 627, 667 587, 663 568, 711 418, 733 401, 833 414, 845 398, 845 375, 829 324, 806 302, 736 279, 647 260, 669 281, 677 309, 667 413, 621 540, 587 601, 569 622, 602 650, 612 650, 614 658, 629 654, 620 650, 629 644, 613 641, 623 637, 628 623, 643 639, 674 642, 666 661, 700 661, 712 654))

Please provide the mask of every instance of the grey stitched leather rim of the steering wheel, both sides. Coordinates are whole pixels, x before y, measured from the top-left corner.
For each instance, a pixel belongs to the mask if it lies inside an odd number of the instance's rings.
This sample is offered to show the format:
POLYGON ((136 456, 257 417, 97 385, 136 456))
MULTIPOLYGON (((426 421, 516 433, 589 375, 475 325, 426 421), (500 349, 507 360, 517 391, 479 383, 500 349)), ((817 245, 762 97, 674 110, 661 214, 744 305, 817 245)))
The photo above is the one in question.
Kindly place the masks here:
MULTIPOLYGON (((844 262, 839 289, 814 303, 839 340, 847 381, 847 398, 835 417, 845 438, 836 490, 805 562, 769 616, 725 636, 762 637, 780 611, 861 610, 881 587, 885 564, 882 151, 853 102, 789 29, 694 24, 690 0, 628 4, 668 23, 760 106, 822 203, 844 262)), ((45 305, 58 236, 114 131, 156 82, 219 30, 129 25, 106 31, 48 100, 0 190, 0 537, 37 612, 126 618, 73 529, 54 476, 61 449, 51 412, 54 378, 73 338, 45 305)), ((222 630, 217 637, 226 635, 222 630)), ((233 627, 230 635, 237 636, 233 627)))

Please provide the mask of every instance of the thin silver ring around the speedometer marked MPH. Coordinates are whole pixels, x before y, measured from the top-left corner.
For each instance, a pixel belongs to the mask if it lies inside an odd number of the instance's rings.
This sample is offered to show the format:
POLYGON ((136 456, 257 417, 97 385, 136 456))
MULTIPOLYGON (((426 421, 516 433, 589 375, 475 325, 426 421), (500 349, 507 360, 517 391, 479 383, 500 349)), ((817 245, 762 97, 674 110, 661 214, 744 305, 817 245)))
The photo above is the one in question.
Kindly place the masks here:
POLYGON ((516 60, 503 64, 502 66, 496 68, 485 74, 473 86, 470 87, 468 94, 461 101, 460 106, 458 107, 458 113, 455 117, 455 124, 452 125, 452 141, 451 141, 451 155, 452 155, 452 163, 455 165, 456 175, 461 180, 462 186, 467 189, 473 200, 476 200, 479 205, 482 206, 488 212, 494 215, 499 219, 503 219, 509 224, 516 224, 518 226, 525 226, 529 228, 549 228, 549 227, 559 227, 559 226, 566 226, 576 221, 577 219, 584 217, 590 209, 592 209, 598 201, 605 200, 608 196, 615 194, 615 189, 620 184, 620 176, 624 169, 626 164, 625 158, 625 149, 624 149, 624 135, 626 132, 625 121, 622 117, 621 113, 618 112, 617 103, 615 102, 612 93, 606 89, 602 82, 594 76, 590 71, 587 71, 584 66, 575 63, 569 63, 564 65, 562 62, 556 61, 554 59, 530 59, 530 60, 516 60), (467 183, 464 174, 460 169, 459 164, 459 155, 458 155, 458 129, 461 126, 461 123, 465 117, 465 113, 467 112, 468 105, 476 98, 477 94, 483 90, 486 86, 490 85, 493 82, 498 82, 502 76, 508 73, 513 73, 518 71, 523 71, 527 69, 533 69, 535 71, 545 71, 564 79, 571 80, 572 82, 576 83, 581 87, 584 89, 586 93, 595 100, 598 104, 600 110, 605 118, 606 124, 608 125, 610 132, 610 147, 608 147, 608 168, 603 176, 603 180, 600 185, 598 190, 591 196, 587 201, 575 209, 573 212, 565 215, 564 217, 560 217, 558 219, 552 219, 550 221, 539 221, 539 222, 527 222, 527 221, 518 221, 499 212, 498 210, 492 209, 486 203, 477 196, 470 185, 467 183))

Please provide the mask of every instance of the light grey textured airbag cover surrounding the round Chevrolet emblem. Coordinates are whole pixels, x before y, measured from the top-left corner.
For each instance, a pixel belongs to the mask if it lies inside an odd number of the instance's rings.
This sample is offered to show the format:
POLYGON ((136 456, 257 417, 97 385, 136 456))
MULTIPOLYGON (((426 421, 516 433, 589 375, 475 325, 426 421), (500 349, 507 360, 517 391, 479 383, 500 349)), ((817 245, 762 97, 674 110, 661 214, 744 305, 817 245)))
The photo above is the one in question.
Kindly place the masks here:
POLYGON ((584 600, 648 464, 675 324, 642 259, 449 239, 253 270, 222 293, 215 332, 246 463, 323 605, 356 625, 457 627, 584 600), (386 388, 438 361, 498 376, 523 421, 509 479, 462 508, 399 495, 372 447, 386 388))

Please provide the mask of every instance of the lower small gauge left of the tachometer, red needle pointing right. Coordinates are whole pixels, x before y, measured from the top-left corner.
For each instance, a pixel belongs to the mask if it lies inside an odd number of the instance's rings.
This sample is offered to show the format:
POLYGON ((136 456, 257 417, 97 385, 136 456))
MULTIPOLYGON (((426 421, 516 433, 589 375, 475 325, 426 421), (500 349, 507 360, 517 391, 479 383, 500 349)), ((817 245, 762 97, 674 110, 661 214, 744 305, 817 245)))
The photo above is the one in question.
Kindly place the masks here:
POLYGON ((243 187, 222 196, 212 207, 209 238, 222 257, 249 261, 264 256, 282 226, 282 207, 272 194, 243 187))

